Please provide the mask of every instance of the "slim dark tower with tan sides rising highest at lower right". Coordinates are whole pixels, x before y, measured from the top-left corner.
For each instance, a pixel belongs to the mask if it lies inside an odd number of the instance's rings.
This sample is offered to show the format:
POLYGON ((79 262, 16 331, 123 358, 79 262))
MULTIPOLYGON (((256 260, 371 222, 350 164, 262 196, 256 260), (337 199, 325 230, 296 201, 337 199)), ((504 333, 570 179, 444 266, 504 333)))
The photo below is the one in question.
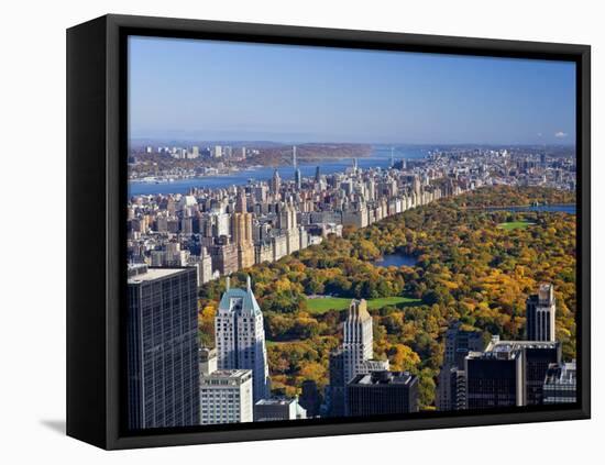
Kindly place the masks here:
POLYGON ((542 283, 538 288, 538 294, 531 295, 527 299, 526 309, 527 340, 556 341, 554 287, 551 284, 542 283))

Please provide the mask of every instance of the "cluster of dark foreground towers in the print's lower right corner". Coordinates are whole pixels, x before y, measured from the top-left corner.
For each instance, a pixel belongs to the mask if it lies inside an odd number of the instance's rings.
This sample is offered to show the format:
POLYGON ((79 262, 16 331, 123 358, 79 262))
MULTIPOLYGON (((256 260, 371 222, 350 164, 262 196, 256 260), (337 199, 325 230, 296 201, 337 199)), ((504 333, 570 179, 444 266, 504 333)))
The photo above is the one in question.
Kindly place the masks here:
POLYGON ((486 344, 483 334, 453 324, 446 333, 439 410, 522 407, 575 401, 575 361, 562 362, 556 339, 556 299, 540 284, 526 302, 526 340, 486 344), (564 399, 564 400, 563 400, 564 399))

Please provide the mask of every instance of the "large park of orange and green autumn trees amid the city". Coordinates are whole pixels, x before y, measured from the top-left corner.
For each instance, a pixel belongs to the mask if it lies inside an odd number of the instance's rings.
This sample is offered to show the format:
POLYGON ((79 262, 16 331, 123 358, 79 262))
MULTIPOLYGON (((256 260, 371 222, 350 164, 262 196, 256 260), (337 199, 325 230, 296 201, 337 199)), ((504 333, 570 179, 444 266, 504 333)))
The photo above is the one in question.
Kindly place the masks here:
MULTIPOLYGON (((486 187, 407 210, 276 263, 251 275, 263 310, 272 388, 299 394, 304 380, 321 388, 328 361, 341 343, 353 298, 367 300, 374 320, 374 355, 394 370, 419 377, 419 401, 432 409, 450 324, 522 339, 525 301, 541 281, 554 285, 557 339, 564 358, 575 356, 575 214, 506 210, 507 206, 574 203, 574 192, 546 188, 486 187), (497 207, 497 209, 494 209, 497 207), (385 255, 414 256, 413 266, 378 266, 385 255)), ((215 312, 224 278, 199 294, 199 336, 212 347, 215 312)))

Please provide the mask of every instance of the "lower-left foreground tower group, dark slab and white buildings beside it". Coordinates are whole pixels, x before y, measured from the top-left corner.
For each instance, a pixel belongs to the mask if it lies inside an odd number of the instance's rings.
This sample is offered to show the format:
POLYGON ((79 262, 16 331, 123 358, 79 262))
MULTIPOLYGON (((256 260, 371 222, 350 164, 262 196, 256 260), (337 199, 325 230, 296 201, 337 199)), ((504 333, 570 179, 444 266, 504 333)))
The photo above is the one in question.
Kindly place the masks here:
POLYGON ((271 395, 263 314, 250 279, 245 289, 228 285, 215 348, 199 347, 196 289, 193 267, 129 266, 129 427, 306 418, 297 399, 271 395))

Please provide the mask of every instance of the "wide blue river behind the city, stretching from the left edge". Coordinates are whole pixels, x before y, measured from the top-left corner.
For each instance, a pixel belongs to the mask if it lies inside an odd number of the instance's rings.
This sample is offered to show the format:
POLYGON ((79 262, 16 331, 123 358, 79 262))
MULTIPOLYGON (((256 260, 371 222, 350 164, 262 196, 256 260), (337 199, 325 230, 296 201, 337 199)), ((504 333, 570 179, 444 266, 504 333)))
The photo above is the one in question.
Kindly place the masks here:
MULTIPOLYGON (((429 153, 429 147, 395 147, 395 160, 406 158, 425 158, 429 153)), ((317 166, 322 175, 333 173, 343 173, 348 167, 353 165, 353 158, 330 159, 322 162, 314 162, 300 164, 299 169, 302 177, 312 177, 317 166)), ((388 168, 391 165, 391 147, 375 146, 372 154, 367 157, 358 158, 358 166, 363 169, 367 168, 388 168)), ((238 173, 218 176, 200 176, 197 178, 175 179, 173 182, 145 182, 131 180, 129 181, 129 196, 146 196, 157 193, 187 193, 191 188, 211 188, 219 189, 229 186, 243 186, 249 180, 268 180, 273 176, 275 168, 263 166, 258 168, 242 169, 238 173)), ((294 179, 294 167, 284 165, 277 168, 282 179, 294 179)))

